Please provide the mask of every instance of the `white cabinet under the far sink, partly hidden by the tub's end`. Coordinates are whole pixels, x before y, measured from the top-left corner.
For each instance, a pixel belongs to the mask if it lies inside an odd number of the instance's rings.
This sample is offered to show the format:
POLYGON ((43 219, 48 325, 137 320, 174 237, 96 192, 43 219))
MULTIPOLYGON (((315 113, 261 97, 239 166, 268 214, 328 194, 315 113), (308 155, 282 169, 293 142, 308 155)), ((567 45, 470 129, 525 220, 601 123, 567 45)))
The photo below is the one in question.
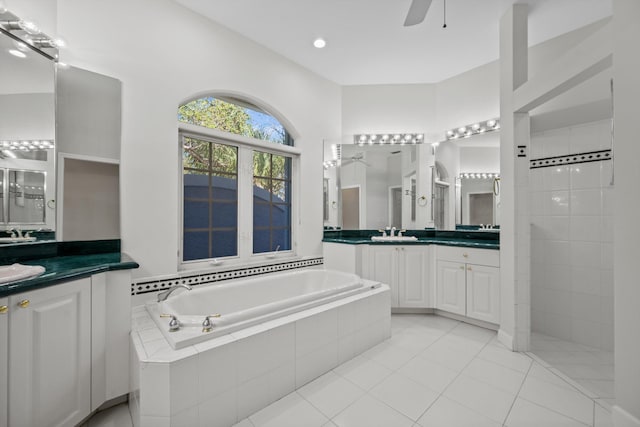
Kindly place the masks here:
POLYGON ((391 288, 391 308, 429 307, 428 245, 369 245, 364 277, 391 288))

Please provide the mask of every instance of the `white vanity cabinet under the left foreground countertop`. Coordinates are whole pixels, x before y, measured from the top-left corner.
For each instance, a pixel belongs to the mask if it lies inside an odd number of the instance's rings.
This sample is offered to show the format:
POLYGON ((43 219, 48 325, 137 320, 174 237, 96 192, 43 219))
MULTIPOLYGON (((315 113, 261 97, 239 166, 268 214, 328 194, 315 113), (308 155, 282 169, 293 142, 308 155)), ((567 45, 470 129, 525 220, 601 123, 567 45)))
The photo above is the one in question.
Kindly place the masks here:
POLYGON ((0 427, 77 425, 129 392, 130 286, 114 270, 0 298, 0 427))

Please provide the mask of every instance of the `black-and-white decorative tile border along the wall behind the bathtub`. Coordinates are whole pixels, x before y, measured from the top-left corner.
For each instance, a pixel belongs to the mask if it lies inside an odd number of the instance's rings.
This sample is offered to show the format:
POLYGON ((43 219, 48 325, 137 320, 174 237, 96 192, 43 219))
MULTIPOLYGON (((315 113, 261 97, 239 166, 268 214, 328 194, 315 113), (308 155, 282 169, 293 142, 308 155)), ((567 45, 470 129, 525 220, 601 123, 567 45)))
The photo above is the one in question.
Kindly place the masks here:
POLYGON ((258 276, 260 274, 274 273, 276 271, 294 270, 296 268, 312 267, 324 264, 324 258, 310 258, 301 261, 283 262, 280 264, 261 265, 256 267, 237 268, 233 270, 217 271, 215 273, 193 274, 190 276, 176 276, 171 279, 149 280, 131 284, 131 295, 141 295, 169 289, 175 285, 204 285, 207 283, 221 282, 241 277, 258 276))

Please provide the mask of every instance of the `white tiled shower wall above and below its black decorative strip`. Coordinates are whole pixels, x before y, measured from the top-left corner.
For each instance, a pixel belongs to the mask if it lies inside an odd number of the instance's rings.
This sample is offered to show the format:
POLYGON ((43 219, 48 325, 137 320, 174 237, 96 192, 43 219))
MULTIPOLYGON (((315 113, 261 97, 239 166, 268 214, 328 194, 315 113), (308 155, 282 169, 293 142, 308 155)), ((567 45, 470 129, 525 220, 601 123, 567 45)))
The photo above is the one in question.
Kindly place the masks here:
MULTIPOLYGON (((531 135, 531 159, 609 149, 610 121, 531 135)), ((613 350, 612 162, 530 170, 532 331, 613 350)))

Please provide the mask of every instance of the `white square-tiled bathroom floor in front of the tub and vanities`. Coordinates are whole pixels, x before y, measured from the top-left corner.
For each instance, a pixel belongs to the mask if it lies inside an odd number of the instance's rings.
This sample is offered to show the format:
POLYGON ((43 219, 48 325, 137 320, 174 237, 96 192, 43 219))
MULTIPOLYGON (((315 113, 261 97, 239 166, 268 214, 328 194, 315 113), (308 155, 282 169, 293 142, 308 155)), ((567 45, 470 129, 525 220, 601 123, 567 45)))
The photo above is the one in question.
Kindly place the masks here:
MULTIPOLYGON (((432 315, 392 316, 393 336, 235 427, 610 427, 592 399, 496 333, 432 315)), ((130 427, 126 405, 86 427, 130 427)))

